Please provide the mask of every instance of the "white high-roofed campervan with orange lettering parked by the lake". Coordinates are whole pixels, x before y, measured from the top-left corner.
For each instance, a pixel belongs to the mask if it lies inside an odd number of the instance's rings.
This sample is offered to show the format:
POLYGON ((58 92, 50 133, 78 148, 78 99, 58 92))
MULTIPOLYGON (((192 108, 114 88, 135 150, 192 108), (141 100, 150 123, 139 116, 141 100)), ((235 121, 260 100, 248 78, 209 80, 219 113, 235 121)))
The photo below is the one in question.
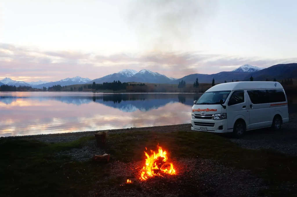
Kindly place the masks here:
POLYGON ((192 130, 233 132, 272 127, 289 122, 287 96, 282 85, 272 81, 221 83, 194 101, 192 130))

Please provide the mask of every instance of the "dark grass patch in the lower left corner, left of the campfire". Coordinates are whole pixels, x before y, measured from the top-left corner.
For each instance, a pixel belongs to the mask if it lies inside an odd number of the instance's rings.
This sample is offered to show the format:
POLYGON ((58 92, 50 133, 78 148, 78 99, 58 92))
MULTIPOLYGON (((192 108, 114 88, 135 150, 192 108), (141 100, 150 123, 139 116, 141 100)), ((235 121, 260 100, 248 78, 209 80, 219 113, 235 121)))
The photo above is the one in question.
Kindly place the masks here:
POLYGON ((38 141, 0 141, 0 196, 84 196, 108 164, 72 162, 55 152, 79 148, 83 142, 48 144, 38 141))

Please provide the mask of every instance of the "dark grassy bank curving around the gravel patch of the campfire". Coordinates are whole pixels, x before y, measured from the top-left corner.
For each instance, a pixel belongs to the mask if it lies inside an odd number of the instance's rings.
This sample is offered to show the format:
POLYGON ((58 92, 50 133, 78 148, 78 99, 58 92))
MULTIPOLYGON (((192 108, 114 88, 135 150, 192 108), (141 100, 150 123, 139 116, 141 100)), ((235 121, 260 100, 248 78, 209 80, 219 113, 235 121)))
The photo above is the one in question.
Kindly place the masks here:
MULTIPOLYGON (((297 185, 297 157, 269 149, 238 147, 229 139, 211 133, 136 131, 111 133, 105 152, 109 163, 78 162, 61 151, 80 149, 93 136, 67 143, 43 143, 15 138, 0 138, 0 196, 92 196, 90 191, 120 185, 127 177, 104 181, 110 176, 110 163, 143 160, 145 147, 159 143, 175 158, 206 158, 228 166, 250 169, 268 186, 262 196, 294 196, 297 185)), ((236 180, 234 180, 236 181, 236 180)), ((126 188, 129 190, 129 187, 126 188)))

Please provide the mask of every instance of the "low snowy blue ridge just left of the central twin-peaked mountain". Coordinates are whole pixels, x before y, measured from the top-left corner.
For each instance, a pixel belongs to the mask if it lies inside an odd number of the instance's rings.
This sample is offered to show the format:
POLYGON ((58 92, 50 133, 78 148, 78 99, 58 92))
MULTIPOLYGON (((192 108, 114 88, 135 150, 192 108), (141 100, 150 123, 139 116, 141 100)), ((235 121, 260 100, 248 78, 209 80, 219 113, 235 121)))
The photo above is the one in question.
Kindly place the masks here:
POLYGON ((61 86, 69 86, 69 85, 75 85, 75 84, 86 84, 92 81, 89 78, 82 78, 79 76, 72 77, 72 78, 66 78, 66 79, 61 79, 60 81, 51 81, 48 83, 43 83, 39 85, 32 86, 34 88, 42 88, 44 87, 51 87, 54 85, 61 85, 61 86))

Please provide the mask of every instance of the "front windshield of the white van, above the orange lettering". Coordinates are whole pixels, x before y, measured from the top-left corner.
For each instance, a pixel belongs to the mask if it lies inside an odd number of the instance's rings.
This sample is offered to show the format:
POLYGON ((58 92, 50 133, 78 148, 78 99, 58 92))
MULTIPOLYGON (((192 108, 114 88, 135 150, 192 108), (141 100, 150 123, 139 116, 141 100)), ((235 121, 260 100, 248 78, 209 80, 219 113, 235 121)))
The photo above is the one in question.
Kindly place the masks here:
POLYGON ((222 99, 225 103, 231 91, 205 92, 195 103, 196 105, 216 105, 222 99))

